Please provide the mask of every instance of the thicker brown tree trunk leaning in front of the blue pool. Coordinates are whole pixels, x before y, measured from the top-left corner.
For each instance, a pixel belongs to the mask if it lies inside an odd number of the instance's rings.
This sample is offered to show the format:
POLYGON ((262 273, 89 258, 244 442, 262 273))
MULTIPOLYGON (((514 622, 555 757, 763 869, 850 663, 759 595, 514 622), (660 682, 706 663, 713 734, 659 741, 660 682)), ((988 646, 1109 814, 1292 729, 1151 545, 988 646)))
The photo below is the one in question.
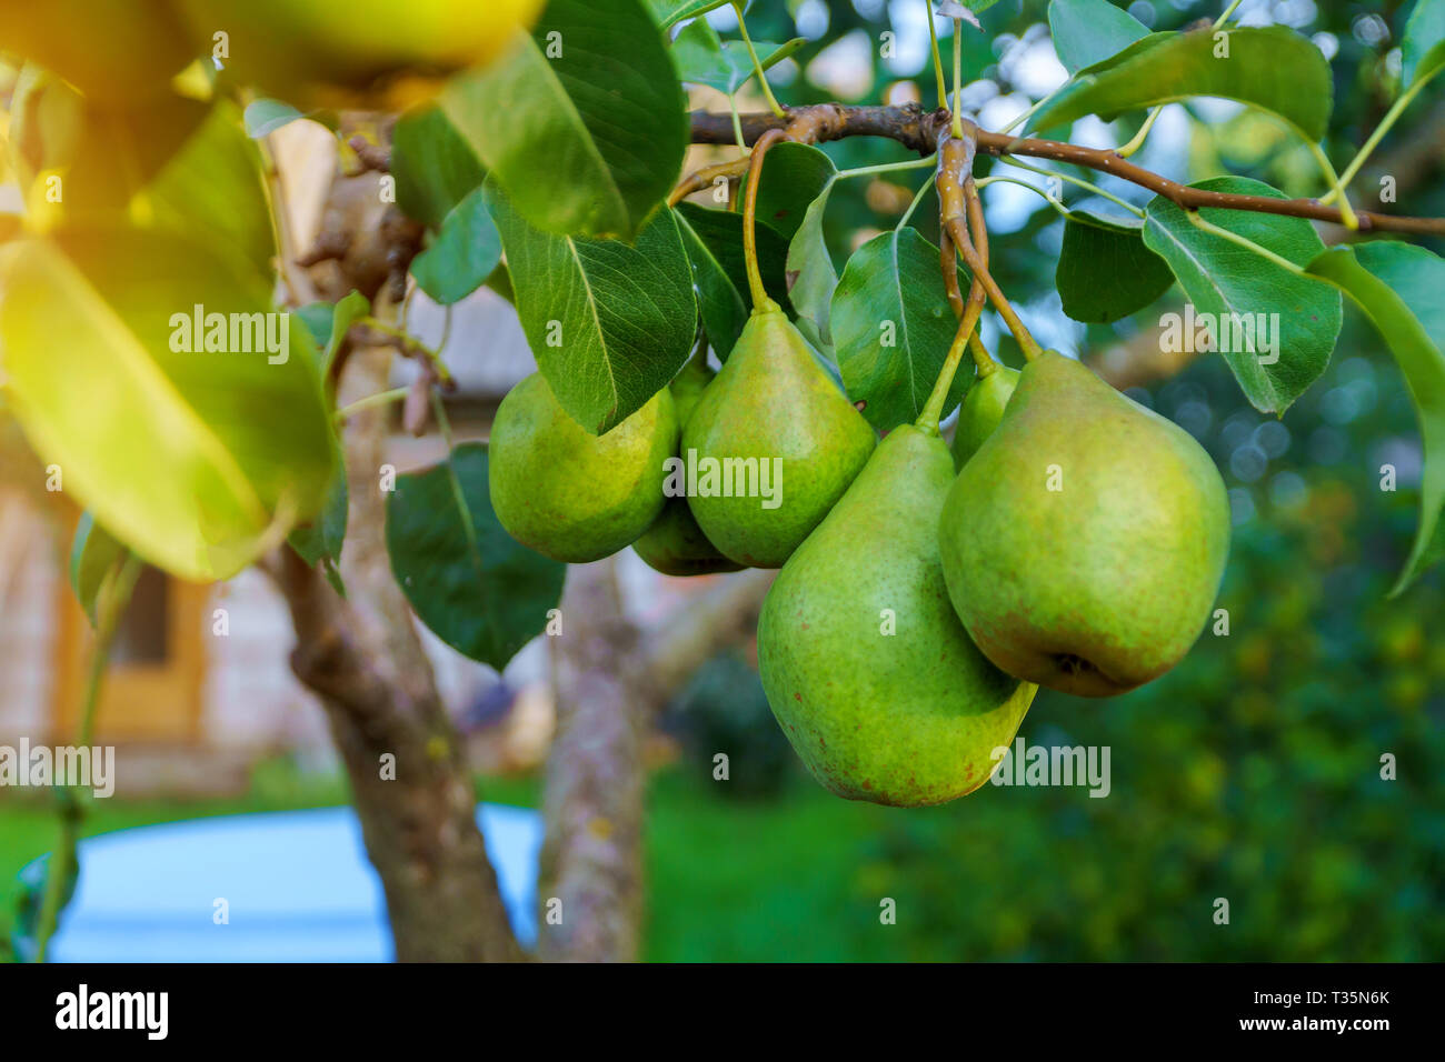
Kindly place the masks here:
MULTIPOLYGON (((357 351, 348 370, 374 390, 389 361, 357 351)), ((273 566, 296 629, 292 669, 325 705, 386 892, 396 958, 514 961, 522 951, 474 818, 461 743, 387 561, 384 428, 384 415, 367 410, 347 433, 347 600, 289 548, 273 566)))

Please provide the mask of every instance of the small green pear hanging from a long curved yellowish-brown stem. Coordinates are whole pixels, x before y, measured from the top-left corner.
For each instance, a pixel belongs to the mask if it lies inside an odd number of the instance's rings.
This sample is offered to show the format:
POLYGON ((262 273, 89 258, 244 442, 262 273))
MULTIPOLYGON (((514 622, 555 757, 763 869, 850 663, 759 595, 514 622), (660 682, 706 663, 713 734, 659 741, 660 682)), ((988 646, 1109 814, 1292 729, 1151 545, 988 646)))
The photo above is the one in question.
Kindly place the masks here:
POLYGON ((724 555, 779 568, 876 444, 798 328, 762 301, 682 432, 682 457, 699 470, 688 504, 724 555))

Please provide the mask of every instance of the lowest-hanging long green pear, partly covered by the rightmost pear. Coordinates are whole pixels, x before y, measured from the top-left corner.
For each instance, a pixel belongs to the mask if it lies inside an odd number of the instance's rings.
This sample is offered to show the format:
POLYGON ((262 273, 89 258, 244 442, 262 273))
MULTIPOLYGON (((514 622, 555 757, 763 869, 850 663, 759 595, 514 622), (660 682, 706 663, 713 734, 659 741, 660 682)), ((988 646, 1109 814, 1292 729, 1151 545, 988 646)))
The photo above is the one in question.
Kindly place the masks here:
POLYGON ((767 701, 840 796, 912 808, 971 793, 1033 701, 948 603, 936 529, 952 481, 935 432, 894 428, 763 603, 767 701))

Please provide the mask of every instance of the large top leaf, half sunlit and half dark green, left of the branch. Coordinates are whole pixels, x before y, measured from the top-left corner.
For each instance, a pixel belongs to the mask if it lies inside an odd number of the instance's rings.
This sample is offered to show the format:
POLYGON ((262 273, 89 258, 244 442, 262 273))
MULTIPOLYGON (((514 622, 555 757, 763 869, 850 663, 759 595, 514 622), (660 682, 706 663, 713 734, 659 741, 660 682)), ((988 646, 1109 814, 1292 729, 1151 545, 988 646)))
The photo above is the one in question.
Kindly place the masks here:
POLYGON ((536 228, 631 238, 688 147, 672 58, 639 0, 552 0, 442 107, 536 228))

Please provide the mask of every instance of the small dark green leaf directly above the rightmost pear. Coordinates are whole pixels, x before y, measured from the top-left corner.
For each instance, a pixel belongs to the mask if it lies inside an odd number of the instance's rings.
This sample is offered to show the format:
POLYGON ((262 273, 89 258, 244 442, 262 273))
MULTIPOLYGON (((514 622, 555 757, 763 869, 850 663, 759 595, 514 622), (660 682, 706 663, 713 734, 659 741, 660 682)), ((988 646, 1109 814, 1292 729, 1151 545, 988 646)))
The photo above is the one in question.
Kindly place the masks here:
POLYGON ((1107 325, 1163 295, 1173 283, 1173 273, 1144 246, 1143 221, 1077 210, 1064 223, 1064 249, 1053 282, 1065 314, 1085 324, 1107 325))

